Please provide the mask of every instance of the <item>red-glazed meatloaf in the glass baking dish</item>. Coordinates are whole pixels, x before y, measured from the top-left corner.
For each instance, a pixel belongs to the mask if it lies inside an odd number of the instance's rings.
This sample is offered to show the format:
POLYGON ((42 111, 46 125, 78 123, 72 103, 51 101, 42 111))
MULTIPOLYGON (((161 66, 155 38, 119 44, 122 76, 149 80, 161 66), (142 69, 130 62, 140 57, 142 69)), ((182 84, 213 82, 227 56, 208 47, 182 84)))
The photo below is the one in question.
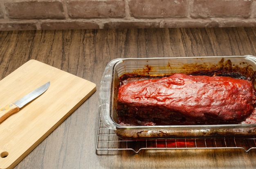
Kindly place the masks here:
POLYGON ((252 82, 224 76, 169 77, 121 85, 121 125, 237 124, 254 110, 252 82))

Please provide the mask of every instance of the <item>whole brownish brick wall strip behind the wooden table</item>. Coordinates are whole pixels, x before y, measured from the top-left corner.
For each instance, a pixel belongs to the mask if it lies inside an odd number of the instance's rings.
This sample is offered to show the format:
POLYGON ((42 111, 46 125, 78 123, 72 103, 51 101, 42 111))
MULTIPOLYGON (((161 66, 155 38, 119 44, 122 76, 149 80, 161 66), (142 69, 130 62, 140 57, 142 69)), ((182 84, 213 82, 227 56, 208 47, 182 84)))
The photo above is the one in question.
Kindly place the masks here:
POLYGON ((0 0, 0 31, 241 26, 256 0, 0 0))

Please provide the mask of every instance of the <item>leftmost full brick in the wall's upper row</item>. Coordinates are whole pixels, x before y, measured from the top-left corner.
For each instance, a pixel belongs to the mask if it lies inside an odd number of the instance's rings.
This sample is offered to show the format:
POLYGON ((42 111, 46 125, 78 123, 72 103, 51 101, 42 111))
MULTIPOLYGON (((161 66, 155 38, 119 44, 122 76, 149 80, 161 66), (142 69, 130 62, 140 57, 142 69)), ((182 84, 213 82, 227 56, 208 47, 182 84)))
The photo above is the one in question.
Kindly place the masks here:
POLYGON ((59 1, 27 1, 5 3, 11 19, 64 19, 64 7, 59 1))

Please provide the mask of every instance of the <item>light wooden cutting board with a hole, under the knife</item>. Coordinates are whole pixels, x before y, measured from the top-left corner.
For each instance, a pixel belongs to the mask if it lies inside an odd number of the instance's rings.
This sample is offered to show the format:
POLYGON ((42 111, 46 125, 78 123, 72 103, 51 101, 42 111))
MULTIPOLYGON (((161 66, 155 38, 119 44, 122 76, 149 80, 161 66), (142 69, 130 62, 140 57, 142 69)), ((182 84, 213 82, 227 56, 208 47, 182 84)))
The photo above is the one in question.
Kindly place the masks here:
POLYGON ((48 81, 45 93, 0 123, 0 169, 15 167, 96 91, 88 80, 29 60, 0 81, 0 108, 48 81))

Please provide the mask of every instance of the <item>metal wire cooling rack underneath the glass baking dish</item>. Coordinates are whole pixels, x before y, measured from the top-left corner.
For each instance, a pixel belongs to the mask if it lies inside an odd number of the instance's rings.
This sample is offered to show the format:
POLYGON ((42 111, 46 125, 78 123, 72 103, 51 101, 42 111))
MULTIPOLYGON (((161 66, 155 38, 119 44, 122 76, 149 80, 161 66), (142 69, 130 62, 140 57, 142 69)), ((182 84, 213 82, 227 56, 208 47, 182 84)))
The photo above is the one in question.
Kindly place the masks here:
POLYGON ((248 152, 256 149, 256 136, 250 137, 191 137, 191 138, 155 138, 143 140, 123 140, 115 131, 108 129, 99 118, 96 150, 130 150, 139 153, 150 149, 243 149, 248 152))

